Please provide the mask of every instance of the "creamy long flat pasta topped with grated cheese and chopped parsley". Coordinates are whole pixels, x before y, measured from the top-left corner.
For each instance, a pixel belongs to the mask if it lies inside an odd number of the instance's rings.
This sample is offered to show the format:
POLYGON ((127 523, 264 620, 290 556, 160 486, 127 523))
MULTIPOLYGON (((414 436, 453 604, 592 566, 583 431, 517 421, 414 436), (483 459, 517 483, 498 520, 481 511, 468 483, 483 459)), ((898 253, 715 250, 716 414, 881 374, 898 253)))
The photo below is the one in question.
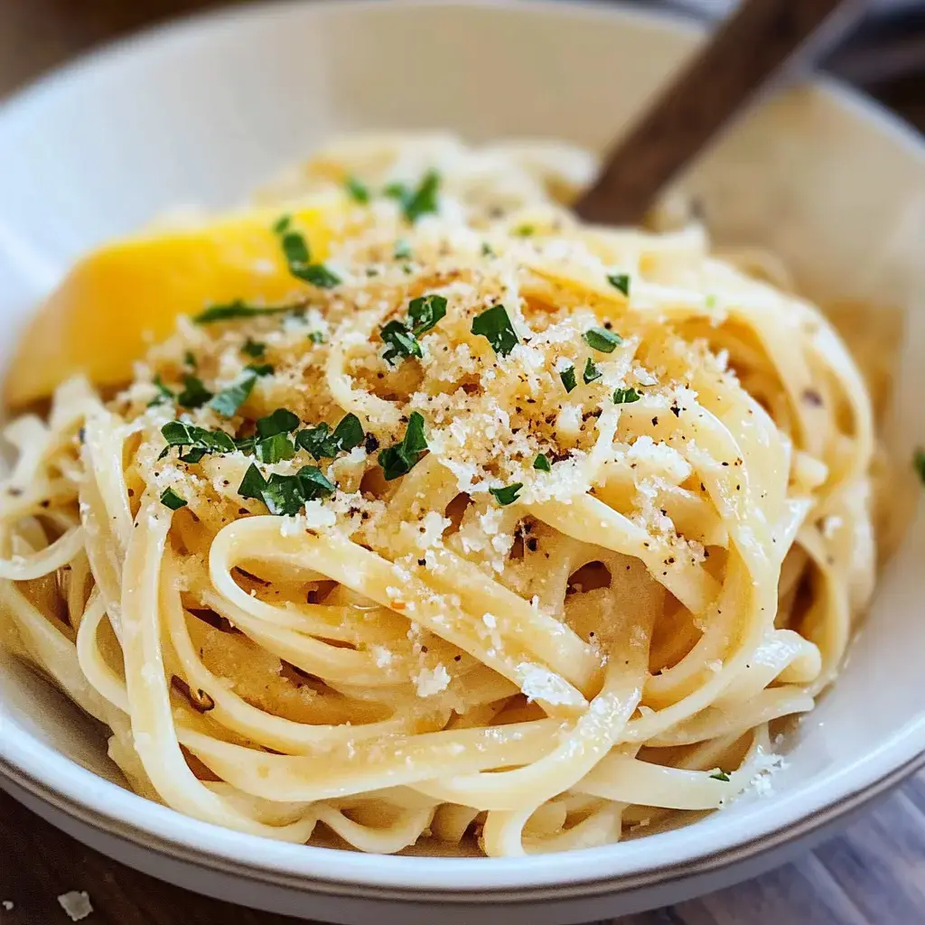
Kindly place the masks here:
POLYGON ((591 168, 333 145, 258 194, 289 300, 203 306, 6 427, 0 640, 142 796, 501 857, 763 785, 870 597, 870 399, 701 228, 581 225, 591 168))

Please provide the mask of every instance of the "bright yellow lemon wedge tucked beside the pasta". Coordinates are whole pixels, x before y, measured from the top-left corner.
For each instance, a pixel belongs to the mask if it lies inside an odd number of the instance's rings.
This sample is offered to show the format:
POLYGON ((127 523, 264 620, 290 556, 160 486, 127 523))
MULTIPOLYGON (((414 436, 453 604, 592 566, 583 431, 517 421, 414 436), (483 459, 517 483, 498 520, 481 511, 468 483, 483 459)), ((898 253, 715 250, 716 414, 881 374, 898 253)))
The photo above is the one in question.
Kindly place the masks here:
MULTIPOLYGON (((327 255, 335 198, 288 210, 313 261, 327 255)), ((40 307, 10 365, 11 408, 47 398, 82 373, 99 386, 131 378, 132 363, 168 337, 181 314, 236 299, 279 304, 307 286, 292 277, 273 226, 286 210, 228 215, 107 244, 75 265, 40 307)))

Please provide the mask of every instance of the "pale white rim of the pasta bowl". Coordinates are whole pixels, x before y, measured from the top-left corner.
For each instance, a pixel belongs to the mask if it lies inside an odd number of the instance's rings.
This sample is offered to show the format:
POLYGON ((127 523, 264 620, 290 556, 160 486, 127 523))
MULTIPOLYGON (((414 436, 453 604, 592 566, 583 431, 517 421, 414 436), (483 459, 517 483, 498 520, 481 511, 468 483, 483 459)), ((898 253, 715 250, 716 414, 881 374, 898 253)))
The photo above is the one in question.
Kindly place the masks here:
MULTIPOLYGON (((0 126, 43 105, 46 98, 68 92, 82 80, 112 76, 135 56, 156 56, 166 47, 201 43, 217 32, 247 28, 258 19, 286 20, 363 14, 374 8, 485 7, 516 11, 524 17, 563 19, 636 19, 692 38, 697 23, 666 12, 623 4, 600 6, 593 0, 348 0, 337 5, 275 0, 211 10, 173 20, 116 43, 104 45, 72 64, 14 93, 0 103, 0 126), (112 73, 109 73, 112 72, 112 73)), ((914 129, 881 105, 834 80, 814 82, 835 105, 854 110, 894 142, 919 157, 925 166, 925 142, 914 129)), ((0 714, 2 720, 2 714, 0 714)), ((417 898, 438 894, 458 901, 563 898, 638 889, 680 880, 697 873, 759 857, 803 838, 867 803, 907 775, 925 766, 925 713, 907 723, 862 759, 817 778, 785 801, 769 803, 740 817, 728 831, 713 832, 711 846, 686 827, 633 843, 632 853, 619 845, 584 851, 518 858, 382 857, 308 845, 290 845, 181 815, 99 777, 25 731, 0 737, 0 778, 17 783, 33 796, 102 832, 149 850, 211 870, 301 892, 370 894, 417 898), (783 806, 782 806, 783 803, 783 806), (749 829, 749 822, 760 823, 749 829), (735 833, 735 830, 743 830, 735 833), (230 836, 230 837, 229 837, 230 836), (658 843, 653 845, 653 843, 658 843), (615 850, 616 849, 616 850, 615 850), (413 884, 413 885, 411 885, 413 884), (478 893, 470 892, 478 891, 478 893), (479 894, 483 894, 480 897, 479 894)), ((702 835, 702 830, 699 830, 702 835)))

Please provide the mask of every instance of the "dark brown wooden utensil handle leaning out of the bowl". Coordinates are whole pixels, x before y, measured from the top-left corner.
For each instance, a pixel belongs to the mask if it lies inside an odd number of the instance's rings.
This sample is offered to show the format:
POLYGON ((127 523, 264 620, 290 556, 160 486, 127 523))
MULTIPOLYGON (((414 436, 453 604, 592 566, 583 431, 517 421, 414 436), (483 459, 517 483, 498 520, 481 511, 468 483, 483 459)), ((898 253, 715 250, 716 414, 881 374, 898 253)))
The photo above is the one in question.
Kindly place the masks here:
POLYGON ((575 211, 587 221, 640 224, 659 191, 774 70, 827 20, 833 28, 844 25, 860 6, 853 0, 744 0, 611 151, 575 211), (842 15, 833 17, 836 10, 842 15))

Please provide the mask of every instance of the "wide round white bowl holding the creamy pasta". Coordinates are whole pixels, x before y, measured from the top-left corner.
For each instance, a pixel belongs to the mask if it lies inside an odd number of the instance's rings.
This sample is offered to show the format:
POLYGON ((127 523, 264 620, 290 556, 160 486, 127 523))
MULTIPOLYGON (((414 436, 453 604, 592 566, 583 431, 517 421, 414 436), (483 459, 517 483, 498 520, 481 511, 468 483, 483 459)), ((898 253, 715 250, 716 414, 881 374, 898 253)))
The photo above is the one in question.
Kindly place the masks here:
MULTIPOLYGON (((92 56, 0 110, 2 353, 73 258, 168 205, 228 204, 349 129, 599 147, 697 42, 689 25, 616 5, 286 3, 191 19, 92 56)), ((817 83, 744 119, 689 183, 722 240, 770 246, 811 293, 908 310, 891 431, 908 459, 925 440, 915 362, 925 145, 817 83)), ((895 490, 919 505, 911 473, 895 490)), ((8 658, 0 779, 119 860, 256 907, 407 925, 609 918, 767 868, 921 763, 922 561, 919 505, 845 672, 801 725, 771 796, 628 844, 502 860, 372 857, 231 833, 129 793, 93 725, 8 658)))

